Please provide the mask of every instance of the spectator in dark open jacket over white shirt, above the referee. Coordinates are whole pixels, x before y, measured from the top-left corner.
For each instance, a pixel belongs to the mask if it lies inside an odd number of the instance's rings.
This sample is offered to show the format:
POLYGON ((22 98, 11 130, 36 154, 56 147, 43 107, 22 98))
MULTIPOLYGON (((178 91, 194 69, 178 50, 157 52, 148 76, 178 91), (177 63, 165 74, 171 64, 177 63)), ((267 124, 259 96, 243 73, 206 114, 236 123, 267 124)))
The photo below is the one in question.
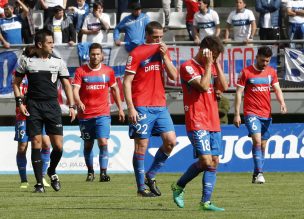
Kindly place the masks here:
POLYGON ((44 28, 54 33, 54 44, 68 43, 74 45, 76 43, 76 31, 72 20, 64 14, 64 10, 60 5, 54 8, 54 17, 45 21, 44 28))

